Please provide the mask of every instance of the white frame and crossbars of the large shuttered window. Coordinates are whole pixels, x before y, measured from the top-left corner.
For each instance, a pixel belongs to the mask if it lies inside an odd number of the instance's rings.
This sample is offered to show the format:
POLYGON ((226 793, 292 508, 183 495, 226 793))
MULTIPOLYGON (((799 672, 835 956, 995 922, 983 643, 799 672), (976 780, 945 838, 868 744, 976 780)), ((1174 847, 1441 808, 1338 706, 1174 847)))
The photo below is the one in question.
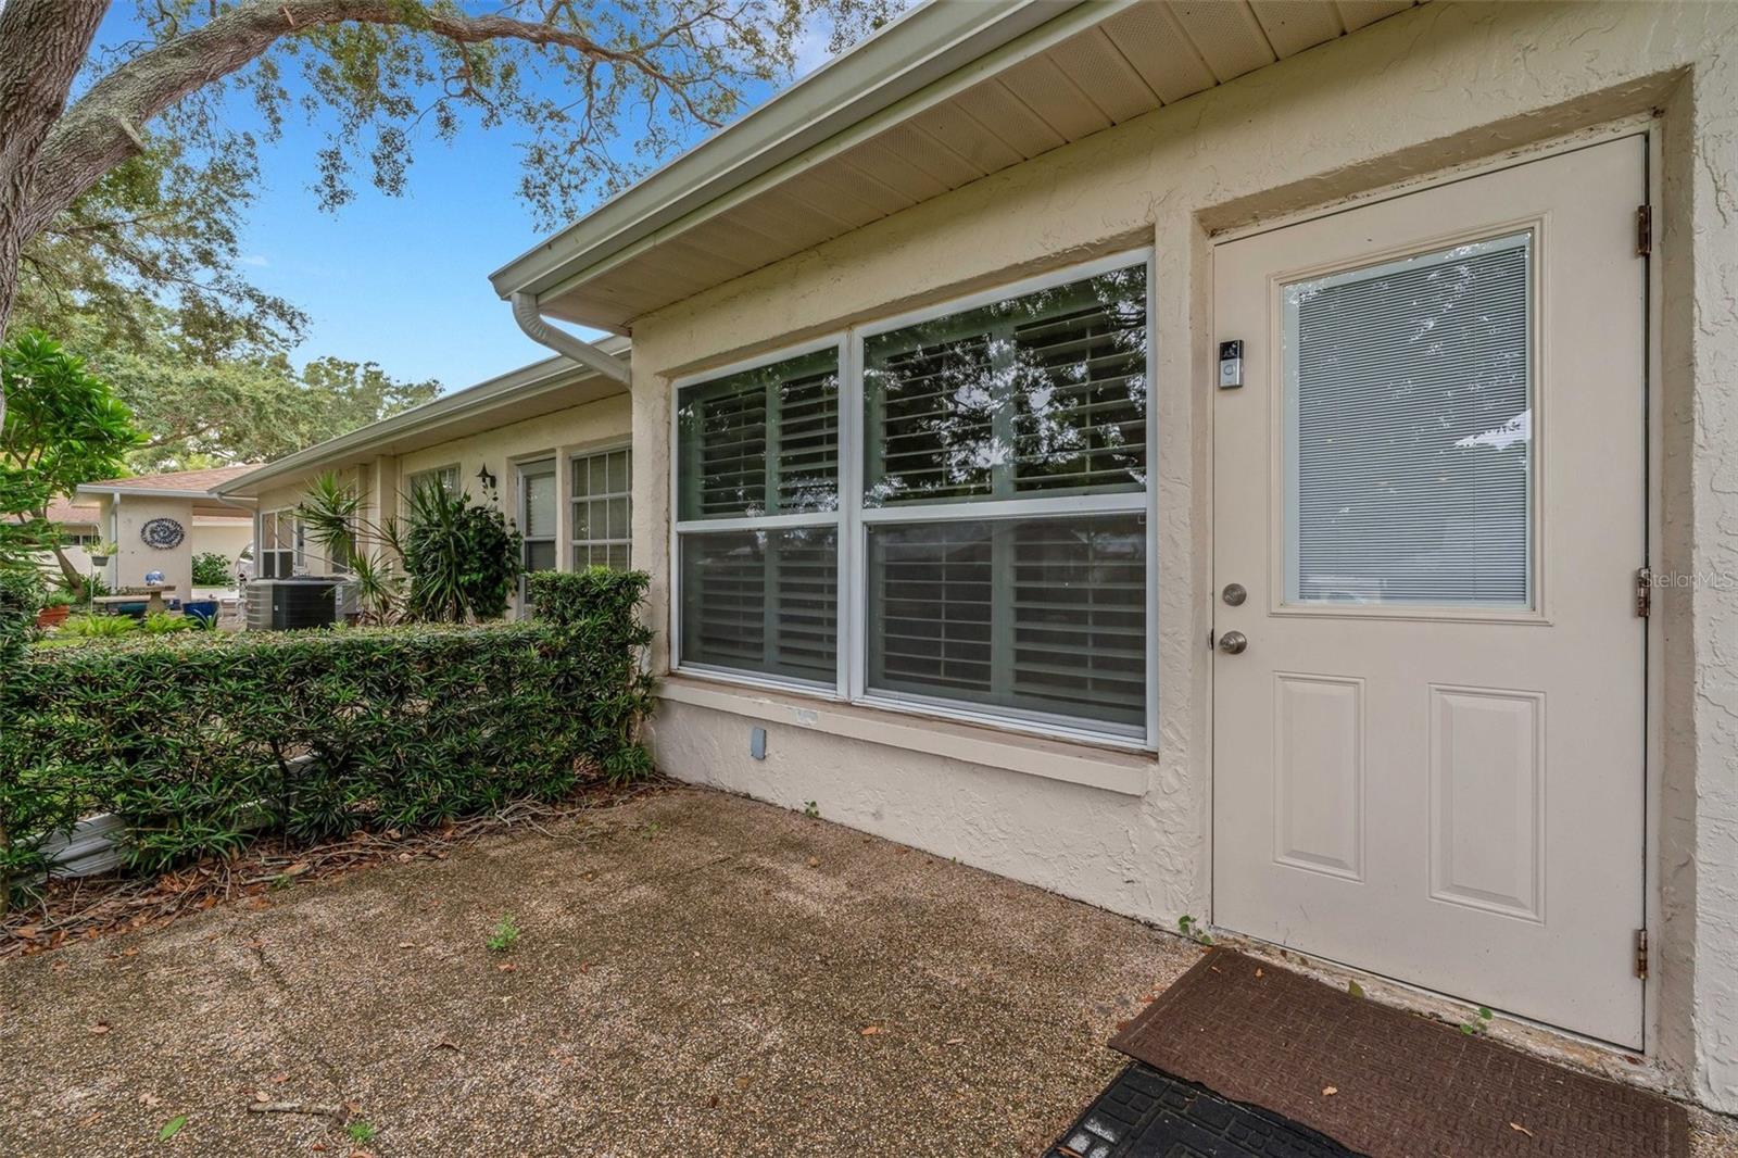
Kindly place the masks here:
POLYGON ((669 654, 671 671, 685 676, 739 683, 744 687, 777 689, 819 695, 822 699, 852 702, 866 708, 886 711, 904 711, 945 720, 963 720, 1015 732, 1038 732, 1041 735, 1060 735, 1090 741, 1116 748, 1133 748, 1156 751, 1159 735, 1159 582, 1158 582, 1158 487, 1154 471, 1159 461, 1159 421, 1156 389, 1156 271, 1152 247, 1121 250, 1093 261, 1071 264, 1036 276, 1008 282, 977 294, 951 297, 921 309, 911 309, 888 318, 848 327, 810 343, 784 346, 777 351, 721 365, 700 374, 688 374, 671 381, 669 395, 669 494, 671 499, 671 537, 669 537, 669 576, 671 576, 671 624, 669 654), (1145 264, 1147 270, 1147 445, 1145 445, 1145 487, 1142 490, 1124 490, 1109 494, 1071 494, 1057 497, 1020 497, 989 501, 951 501, 951 502, 914 502, 909 506, 864 506, 864 341, 876 334, 899 330, 918 322, 928 322, 952 313, 965 313, 999 301, 1022 297, 1038 290, 1083 282, 1086 278, 1126 270, 1133 264, 1145 264), (676 497, 680 496, 680 414, 681 391, 690 386, 713 383, 744 370, 758 370, 787 358, 838 348, 839 355, 839 487, 838 509, 806 511, 799 515, 746 516, 746 518, 678 518, 676 497), (925 695, 907 695, 893 692, 867 690, 869 654, 867 654, 867 560, 869 527, 876 523, 916 523, 933 520, 1001 520, 1001 518, 1043 518, 1067 515, 1145 515, 1145 725, 1140 729, 1118 727, 1111 723, 1093 723, 1078 716, 1050 715, 1017 708, 975 708, 959 701, 932 699, 925 695), (711 664, 683 662, 681 659, 681 537, 700 530, 777 530, 784 527, 838 527, 838 676, 833 687, 808 680, 786 676, 744 673, 711 664))

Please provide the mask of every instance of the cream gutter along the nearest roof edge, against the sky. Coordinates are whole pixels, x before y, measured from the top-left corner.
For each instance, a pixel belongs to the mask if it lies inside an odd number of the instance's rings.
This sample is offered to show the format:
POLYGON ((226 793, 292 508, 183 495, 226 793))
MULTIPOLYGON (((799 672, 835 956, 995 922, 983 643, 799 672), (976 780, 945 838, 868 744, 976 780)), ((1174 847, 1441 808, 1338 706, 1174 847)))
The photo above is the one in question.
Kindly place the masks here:
POLYGON ((1010 50, 1031 56, 1131 2, 930 0, 520 254, 490 282, 502 297, 560 292, 577 271, 647 242, 848 129, 909 116, 982 78, 978 71, 1006 66, 1010 50), (939 82, 958 83, 937 90, 939 82))

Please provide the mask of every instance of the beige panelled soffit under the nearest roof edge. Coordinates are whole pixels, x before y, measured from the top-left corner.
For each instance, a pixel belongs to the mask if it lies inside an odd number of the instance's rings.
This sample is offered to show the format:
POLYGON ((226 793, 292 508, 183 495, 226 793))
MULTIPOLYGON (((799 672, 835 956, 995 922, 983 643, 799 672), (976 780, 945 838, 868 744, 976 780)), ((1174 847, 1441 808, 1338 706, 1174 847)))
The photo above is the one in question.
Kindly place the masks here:
MULTIPOLYGON (((751 273, 1022 160, 1297 56, 1415 0, 1151 0, 1123 9, 758 193, 601 261, 541 299, 626 330, 751 273)), ((1422 0, 1418 0, 1422 2, 1422 0)))

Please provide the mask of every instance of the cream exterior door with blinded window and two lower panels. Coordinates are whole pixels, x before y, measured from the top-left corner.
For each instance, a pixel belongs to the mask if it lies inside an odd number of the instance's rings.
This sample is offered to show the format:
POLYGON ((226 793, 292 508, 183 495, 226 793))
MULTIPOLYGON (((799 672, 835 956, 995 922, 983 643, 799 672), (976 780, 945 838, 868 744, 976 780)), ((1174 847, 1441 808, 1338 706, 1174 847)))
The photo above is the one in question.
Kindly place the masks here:
POLYGON ((1213 407, 1215 922, 1627 1047, 1644 150, 1213 266, 1218 341, 1243 341, 1213 407))

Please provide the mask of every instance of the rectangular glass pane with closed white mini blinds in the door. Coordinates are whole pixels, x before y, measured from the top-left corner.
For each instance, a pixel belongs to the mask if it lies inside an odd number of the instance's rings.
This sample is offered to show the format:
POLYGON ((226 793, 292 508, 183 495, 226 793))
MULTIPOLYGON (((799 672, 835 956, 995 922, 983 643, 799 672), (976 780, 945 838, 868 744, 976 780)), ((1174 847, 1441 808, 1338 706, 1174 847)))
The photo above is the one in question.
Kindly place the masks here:
POLYGON ((1281 290, 1284 600, 1535 605, 1533 235, 1281 290))

